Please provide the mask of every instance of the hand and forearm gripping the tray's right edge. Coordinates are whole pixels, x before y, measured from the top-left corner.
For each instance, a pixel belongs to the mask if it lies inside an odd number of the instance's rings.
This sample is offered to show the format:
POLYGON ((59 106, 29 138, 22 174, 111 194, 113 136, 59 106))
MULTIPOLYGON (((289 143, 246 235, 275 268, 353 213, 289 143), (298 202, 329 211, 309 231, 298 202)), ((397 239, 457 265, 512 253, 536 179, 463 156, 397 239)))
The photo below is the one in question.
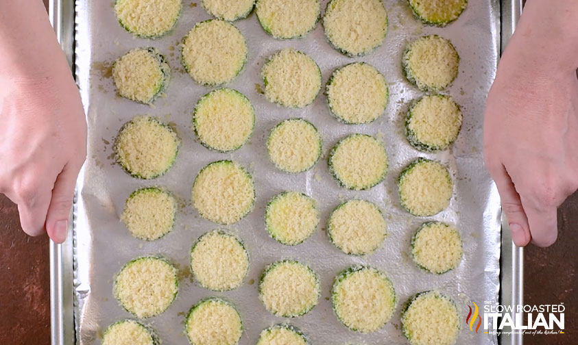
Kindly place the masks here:
POLYGON ((535 27, 555 18, 527 10, 487 97, 484 158, 514 243, 549 246, 557 238, 557 207, 578 188, 578 79, 568 52, 535 27), (532 31, 524 25, 534 13, 540 16, 532 31))

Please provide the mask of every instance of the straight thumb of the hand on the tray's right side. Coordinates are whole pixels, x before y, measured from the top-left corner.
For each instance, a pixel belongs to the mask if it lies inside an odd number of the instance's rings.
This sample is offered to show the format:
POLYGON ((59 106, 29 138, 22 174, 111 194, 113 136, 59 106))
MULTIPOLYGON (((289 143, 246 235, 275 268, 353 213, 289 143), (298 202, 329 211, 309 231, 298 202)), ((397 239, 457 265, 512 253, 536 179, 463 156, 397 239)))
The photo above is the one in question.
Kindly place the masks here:
POLYGON ((531 240, 531 235, 528 218, 520 200, 520 194, 516 191, 511 177, 502 164, 494 170, 492 171, 492 177, 494 177, 500 193, 502 209, 506 214, 511 240, 514 241, 516 246, 526 246, 531 240))

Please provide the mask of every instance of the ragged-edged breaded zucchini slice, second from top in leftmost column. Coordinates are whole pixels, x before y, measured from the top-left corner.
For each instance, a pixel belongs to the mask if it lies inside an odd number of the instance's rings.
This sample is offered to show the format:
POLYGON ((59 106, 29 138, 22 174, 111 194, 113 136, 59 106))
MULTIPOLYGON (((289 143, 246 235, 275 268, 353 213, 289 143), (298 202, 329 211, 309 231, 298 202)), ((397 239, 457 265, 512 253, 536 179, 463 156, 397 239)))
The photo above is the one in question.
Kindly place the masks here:
POLYGON ((171 67, 156 48, 136 48, 112 64, 112 79, 122 97, 150 104, 165 92, 171 67))

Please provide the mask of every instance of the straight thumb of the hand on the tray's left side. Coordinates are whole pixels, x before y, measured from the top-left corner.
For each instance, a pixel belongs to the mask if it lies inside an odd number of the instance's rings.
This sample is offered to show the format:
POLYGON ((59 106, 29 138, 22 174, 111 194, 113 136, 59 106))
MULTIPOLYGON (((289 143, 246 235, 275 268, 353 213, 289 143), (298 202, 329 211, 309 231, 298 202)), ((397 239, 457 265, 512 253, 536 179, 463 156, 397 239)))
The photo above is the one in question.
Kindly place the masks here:
POLYGON ((46 216, 46 231, 56 243, 62 243, 67 239, 68 222, 77 175, 78 170, 67 164, 54 182, 46 216))

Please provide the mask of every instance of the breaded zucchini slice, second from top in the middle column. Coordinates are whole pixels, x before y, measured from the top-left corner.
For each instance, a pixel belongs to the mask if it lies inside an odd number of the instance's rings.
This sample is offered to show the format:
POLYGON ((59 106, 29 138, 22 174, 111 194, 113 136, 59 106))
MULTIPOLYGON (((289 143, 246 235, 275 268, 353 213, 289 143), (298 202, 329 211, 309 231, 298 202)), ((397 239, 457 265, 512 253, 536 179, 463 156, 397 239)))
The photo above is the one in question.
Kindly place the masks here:
POLYGON ((265 97, 283 107, 305 107, 321 89, 321 70, 305 53, 286 48, 269 57, 261 70, 265 97))

